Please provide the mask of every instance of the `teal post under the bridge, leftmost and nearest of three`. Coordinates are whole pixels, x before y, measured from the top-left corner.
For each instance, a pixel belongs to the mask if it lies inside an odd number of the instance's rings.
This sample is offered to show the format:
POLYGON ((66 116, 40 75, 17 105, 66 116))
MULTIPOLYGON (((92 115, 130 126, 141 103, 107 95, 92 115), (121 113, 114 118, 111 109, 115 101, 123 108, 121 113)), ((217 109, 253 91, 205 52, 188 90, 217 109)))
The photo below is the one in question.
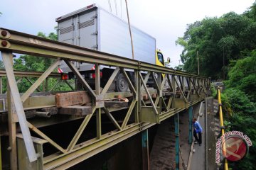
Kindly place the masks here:
POLYGON ((148 129, 142 131, 142 169, 149 170, 149 136, 148 129))

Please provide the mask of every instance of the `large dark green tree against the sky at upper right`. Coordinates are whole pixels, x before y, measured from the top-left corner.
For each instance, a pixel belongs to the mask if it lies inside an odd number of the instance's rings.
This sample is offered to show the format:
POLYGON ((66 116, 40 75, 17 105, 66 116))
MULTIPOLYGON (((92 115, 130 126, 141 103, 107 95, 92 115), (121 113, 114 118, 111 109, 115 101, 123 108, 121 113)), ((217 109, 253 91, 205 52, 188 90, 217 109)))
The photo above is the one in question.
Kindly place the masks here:
POLYGON ((225 13, 220 18, 204 18, 189 24, 183 38, 176 40, 181 45, 181 61, 184 69, 197 72, 197 52, 201 75, 217 79, 228 73, 231 60, 250 55, 256 47, 255 4, 250 11, 239 15, 225 13))

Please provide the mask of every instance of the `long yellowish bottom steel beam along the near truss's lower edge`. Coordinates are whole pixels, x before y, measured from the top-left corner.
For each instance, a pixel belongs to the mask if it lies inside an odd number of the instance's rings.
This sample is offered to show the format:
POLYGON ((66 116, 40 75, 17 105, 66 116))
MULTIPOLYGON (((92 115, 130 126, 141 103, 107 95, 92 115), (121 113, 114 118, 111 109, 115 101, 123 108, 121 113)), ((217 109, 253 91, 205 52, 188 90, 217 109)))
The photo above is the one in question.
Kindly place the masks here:
MULTIPOLYGON (((184 111, 185 109, 171 109, 170 111, 160 115, 160 122, 170 118, 171 116, 184 111)), ((136 135, 147 128, 155 125, 155 123, 133 123, 127 125, 127 128, 119 131, 112 131, 101 136, 100 140, 92 139, 91 142, 87 141, 80 143, 79 146, 74 149, 71 153, 56 155, 56 157, 45 158, 44 159, 44 169, 68 169, 71 166, 78 164, 79 162, 84 161, 97 153, 102 152, 103 150, 110 148, 116 145, 119 142, 122 142, 133 135, 136 135)))

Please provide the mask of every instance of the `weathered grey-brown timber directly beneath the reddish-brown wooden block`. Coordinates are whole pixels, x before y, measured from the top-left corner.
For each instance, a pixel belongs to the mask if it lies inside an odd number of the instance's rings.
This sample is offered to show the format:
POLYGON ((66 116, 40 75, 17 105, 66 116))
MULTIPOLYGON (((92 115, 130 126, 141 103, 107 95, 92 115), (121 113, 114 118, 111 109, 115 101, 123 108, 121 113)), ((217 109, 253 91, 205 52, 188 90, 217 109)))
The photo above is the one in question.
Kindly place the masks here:
POLYGON ((60 108, 59 114, 63 115, 89 115, 92 114, 92 106, 67 106, 60 108))

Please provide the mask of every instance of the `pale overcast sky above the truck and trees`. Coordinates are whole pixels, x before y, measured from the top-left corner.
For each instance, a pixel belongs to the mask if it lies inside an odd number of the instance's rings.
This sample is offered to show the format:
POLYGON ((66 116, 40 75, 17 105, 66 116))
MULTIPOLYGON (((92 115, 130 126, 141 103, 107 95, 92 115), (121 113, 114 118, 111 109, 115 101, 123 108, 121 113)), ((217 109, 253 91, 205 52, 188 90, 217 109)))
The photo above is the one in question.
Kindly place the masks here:
MULTIPOLYGON (((171 58, 171 67, 179 64, 182 47, 175 41, 182 37, 186 25, 206 16, 243 13, 255 0, 127 0, 133 26, 156 38, 156 47, 171 58)), ((36 35, 50 33, 57 26, 55 18, 97 3, 110 11, 108 0, 8 0, 1 4, 0 27, 36 35)), ((124 0, 110 0, 112 13, 126 19, 124 0), (117 3, 117 10, 115 8, 117 3), (121 7, 122 6, 122 7, 121 7), (122 11, 122 13, 121 13, 122 11)))

